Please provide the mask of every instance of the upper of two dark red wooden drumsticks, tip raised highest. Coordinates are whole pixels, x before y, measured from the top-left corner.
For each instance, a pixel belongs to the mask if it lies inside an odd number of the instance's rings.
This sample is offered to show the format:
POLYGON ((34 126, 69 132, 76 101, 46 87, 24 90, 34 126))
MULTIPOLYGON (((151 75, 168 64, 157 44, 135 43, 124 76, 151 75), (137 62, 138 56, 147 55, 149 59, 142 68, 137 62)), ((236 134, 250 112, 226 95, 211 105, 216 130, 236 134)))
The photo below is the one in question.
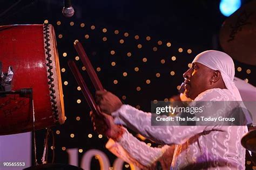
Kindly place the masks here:
POLYGON ((74 42, 74 47, 76 48, 76 51, 77 51, 80 59, 82 60, 83 65, 85 66, 86 71, 87 71, 95 89, 96 90, 104 90, 102 83, 99 81, 99 77, 95 73, 95 70, 92 67, 91 61, 89 60, 88 56, 86 55, 82 44, 78 40, 76 40, 74 42))

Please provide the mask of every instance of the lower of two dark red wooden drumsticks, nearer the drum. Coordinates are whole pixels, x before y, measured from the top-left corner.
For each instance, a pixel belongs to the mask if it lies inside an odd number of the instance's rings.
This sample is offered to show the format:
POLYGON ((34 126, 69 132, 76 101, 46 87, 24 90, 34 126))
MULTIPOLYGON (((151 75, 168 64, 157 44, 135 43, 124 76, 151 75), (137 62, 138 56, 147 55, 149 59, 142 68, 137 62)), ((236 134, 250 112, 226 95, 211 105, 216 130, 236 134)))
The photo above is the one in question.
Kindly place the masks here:
POLYGON ((89 104, 89 107, 98 116, 102 116, 100 114, 100 111, 98 110, 98 107, 97 107, 97 104, 96 104, 94 98, 92 97, 92 94, 89 91, 89 88, 86 86, 84 79, 76 66, 76 63, 74 61, 70 60, 70 61, 68 61, 68 65, 69 65, 69 68, 71 69, 73 76, 75 76, 75 79, 76 79, 78 85, 80 86, 82 93, 85 97, 85 100, 89 104))

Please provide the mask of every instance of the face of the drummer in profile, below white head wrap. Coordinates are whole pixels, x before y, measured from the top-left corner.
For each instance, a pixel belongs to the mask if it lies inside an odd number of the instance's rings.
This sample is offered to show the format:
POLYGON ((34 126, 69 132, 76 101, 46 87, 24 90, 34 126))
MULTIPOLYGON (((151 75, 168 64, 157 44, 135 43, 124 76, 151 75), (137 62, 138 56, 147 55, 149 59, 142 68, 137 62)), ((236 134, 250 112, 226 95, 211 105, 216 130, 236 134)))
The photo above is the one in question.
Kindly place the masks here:
POLYGON ((183 74, 185 79, 185 94, 194 100, 200 93, 211 88, 211 77, 214 70, 194 62, 192 67, 183 74))

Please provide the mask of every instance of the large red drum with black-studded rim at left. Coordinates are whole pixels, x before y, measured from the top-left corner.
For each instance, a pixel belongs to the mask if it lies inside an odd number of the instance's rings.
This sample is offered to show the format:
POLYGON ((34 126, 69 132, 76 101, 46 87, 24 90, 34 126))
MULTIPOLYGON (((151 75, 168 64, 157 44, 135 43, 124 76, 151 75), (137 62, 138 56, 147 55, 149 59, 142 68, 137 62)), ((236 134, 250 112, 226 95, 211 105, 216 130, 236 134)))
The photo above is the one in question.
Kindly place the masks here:
POLYGON ((64 123, 62 81, 51 25, 0 26, 0 63, 0 135, 28 132, 33 125, 37 130, 64 123), (5 94, 24 88, 32 89, 32 97, 5 94))

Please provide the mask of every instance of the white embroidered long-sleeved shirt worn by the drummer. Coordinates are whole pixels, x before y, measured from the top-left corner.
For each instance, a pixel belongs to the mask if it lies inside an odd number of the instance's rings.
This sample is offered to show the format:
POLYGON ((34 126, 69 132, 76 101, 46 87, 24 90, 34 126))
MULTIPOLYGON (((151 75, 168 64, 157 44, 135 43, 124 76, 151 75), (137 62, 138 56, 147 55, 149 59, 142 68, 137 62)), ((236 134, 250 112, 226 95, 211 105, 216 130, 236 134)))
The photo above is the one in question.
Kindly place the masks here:
MULTIPOLYGON (((236 101, 236 98, 230 90, 210 89, 199 94, 195 101, 236 101)), ((157 143, 177 144, 171 169, 245 169, 245 148, 240 141, 247 132, 246 126, 151 126, 151 114, 130 105, 122 105, 112 116, 116 124, 128 126, 157 143)), ((124 136, 121 141, 125 140, 119 144, 138 162, 153 161, 160 155, 159 151, 152 152, 150 157, 139 155, 146 153, 147 148, 134 147, 136 144, 129 143, 130 138, 124 136)))

